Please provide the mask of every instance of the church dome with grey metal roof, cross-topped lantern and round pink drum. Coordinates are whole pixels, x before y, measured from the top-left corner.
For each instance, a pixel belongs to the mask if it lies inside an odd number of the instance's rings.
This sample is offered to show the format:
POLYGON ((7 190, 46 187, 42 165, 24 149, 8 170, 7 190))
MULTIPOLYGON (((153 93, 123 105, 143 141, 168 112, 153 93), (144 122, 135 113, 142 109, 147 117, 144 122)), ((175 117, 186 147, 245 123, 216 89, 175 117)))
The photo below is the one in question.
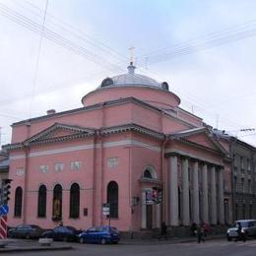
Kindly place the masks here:
POLYGON ((83 96, 83 105, 128 97, 138 98, 162 109, 175 109, 179 105, 179 97, 169 92, 166 82, 159 83, 150 77, 135 74, 135 68, 131 62, 128 73, 105 78, 95 91, 83 96))

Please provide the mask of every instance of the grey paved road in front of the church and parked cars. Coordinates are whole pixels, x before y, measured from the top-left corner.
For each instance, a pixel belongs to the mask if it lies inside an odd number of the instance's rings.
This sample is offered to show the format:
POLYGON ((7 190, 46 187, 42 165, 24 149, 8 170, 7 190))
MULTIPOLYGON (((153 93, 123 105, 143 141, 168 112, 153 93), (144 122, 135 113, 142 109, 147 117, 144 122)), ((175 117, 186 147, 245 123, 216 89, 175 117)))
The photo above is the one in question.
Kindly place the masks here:
POLYGON ((225 240, 212 240, 205 243, 179 243, 167 244, 77 244, 72 243, 74 250, 69 251, 45 251, 45 252, 25 252, 25 253, 1 253, 1 255, 60 255, 60 256, 255 256, 256 240, 244 242, 227 242, 225 240))

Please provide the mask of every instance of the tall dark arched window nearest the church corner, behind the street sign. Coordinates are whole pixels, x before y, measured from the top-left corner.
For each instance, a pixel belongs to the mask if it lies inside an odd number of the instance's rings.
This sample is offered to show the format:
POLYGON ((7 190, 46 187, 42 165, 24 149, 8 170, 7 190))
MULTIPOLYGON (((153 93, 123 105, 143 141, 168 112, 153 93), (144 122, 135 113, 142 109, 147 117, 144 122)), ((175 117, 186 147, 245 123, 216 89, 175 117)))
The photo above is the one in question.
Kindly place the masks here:
POLYGON ((115 181, 107 185, 107 203, 110 206, 109 218, 118 218, 118 184, 115 181))

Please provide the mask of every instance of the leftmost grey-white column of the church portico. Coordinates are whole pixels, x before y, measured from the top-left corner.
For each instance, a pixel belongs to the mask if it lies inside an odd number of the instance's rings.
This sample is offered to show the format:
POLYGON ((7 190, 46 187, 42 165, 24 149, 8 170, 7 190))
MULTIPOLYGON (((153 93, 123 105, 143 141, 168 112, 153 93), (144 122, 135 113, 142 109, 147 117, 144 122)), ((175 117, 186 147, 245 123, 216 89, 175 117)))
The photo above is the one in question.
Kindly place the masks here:
POLYGON ((178 171, 177 157, 169 158, 169 220, 171 225, 178 225, 178 171))

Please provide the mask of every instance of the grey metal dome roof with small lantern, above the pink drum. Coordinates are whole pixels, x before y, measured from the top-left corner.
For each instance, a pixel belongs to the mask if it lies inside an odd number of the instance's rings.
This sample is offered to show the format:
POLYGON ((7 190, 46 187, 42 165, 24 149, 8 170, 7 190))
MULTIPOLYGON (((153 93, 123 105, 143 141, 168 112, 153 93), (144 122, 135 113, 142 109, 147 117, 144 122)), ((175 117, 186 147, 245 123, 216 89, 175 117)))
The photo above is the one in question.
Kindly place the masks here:
POLYGON ((151 88, 157 88, 160 90, 168 91, 168 85, 166 82, 159 83, 156 80, 144 76, 135 74, 135 66, 131 63, 128 66, 128 73, 122 74, 118 76, 114 76, 112 78, 106 78, 101 82, 100 88, 105 87, 126 87, 126 86, 132 86, 132 87, 151 87, 151 88))

